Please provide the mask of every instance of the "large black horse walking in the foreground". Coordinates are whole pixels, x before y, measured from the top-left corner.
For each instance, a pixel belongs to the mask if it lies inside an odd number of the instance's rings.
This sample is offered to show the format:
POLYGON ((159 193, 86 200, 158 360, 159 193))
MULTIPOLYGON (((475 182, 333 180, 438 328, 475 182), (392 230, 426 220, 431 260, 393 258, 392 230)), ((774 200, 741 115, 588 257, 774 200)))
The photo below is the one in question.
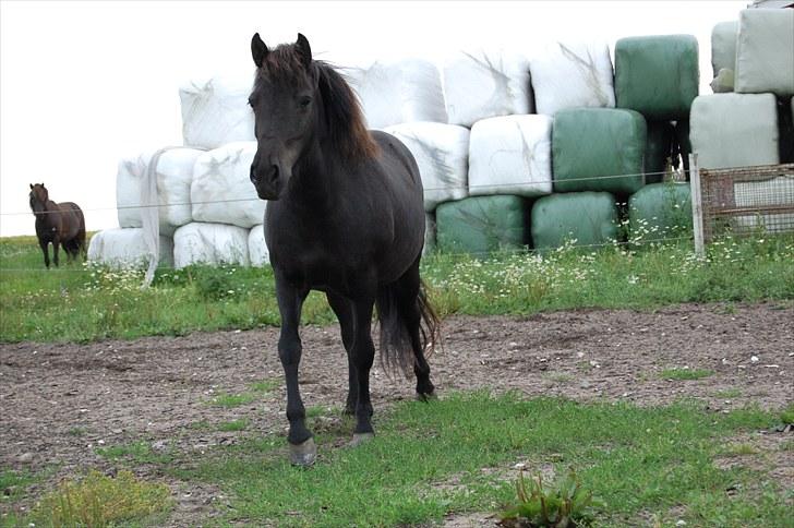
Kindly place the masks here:
POLYGON ((249 98, 257 142, 251 182, 270 201, 265 240, 281 314, 278 353, 287 380, 290 458, 308 465, 316 447, 298 387, 298 326, 310 290, 324 291, 339 319, 353 444, 373 435, 375 304, 382 363, 404 373, 412 368, 418 396, 433 395, 424 351, 436 341, 438 322, 419 277, 422 181, 402 143, 366 130, 352 89, 330 65, 312 60, 303 35, 269 50, 257 33, 251 51, 257 67, 249 98))

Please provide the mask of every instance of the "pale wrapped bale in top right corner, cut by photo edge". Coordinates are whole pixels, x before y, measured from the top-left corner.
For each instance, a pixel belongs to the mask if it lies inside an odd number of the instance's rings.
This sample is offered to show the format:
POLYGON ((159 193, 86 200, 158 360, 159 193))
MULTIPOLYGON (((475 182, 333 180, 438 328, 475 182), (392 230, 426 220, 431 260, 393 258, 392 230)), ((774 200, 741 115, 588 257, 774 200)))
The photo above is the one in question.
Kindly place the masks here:
POLYGON ((735 91, 794 95, 794 9, 739 13, 735 91))

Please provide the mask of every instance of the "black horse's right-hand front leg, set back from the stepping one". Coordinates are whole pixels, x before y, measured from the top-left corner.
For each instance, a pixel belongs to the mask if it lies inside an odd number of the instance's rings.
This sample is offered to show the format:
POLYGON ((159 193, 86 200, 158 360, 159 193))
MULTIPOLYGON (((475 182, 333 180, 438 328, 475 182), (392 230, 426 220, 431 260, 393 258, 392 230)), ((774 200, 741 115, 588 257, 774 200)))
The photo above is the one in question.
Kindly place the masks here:
POLYGON ((370 400, 370 369, 375 359, 375 346, 372 343, 372 310, 374 297, 357 300, 353 303, 354 337, 351 347, 352 363, 358 377, 358 399, 356 401, 356 430, 353 444, 369 440, 374 435, 372 429, 372 403, 370 400))

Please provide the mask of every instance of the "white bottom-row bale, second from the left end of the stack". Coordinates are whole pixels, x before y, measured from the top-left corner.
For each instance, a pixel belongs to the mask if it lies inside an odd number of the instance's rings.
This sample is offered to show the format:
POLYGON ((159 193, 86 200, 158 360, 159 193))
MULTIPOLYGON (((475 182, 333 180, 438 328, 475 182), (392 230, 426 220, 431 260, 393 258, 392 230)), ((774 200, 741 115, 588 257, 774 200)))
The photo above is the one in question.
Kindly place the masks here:
POLYGON ((173 265, 240 264, 248 266, 249 231, 226 224, 194 221, 173 233, 173 265))

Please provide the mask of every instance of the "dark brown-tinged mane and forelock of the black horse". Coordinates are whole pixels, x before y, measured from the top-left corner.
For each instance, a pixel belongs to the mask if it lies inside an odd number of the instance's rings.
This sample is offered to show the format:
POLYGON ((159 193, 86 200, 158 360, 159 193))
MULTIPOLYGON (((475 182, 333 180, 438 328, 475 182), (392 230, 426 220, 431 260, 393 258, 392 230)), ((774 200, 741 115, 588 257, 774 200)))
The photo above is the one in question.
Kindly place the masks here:
MULTIPOLYGON (((294 80, 305 72, 300 52, 294 45, 282 45, 272 50, 262 69, 273 79, 294 80)), ((336 152, 348 160, 362 160, 377 155, 378 146, 366 130, 361 105, 345 77, 328 62, 313 60, 310 75, 317 80, 328 137, 336 152)), ((256 77, 257 84, 260 76, 256 77)))

